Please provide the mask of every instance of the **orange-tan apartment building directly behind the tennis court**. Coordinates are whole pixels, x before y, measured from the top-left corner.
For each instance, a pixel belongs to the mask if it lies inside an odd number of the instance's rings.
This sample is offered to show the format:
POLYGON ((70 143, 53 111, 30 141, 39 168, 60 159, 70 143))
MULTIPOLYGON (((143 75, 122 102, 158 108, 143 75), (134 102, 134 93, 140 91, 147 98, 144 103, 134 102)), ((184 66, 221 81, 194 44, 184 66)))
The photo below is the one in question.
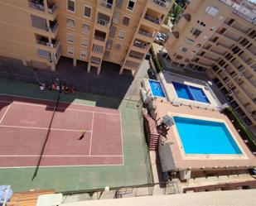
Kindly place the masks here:
POLYGON ((1 0, 0 55, 55 70, 60 56, 137 74, 171 0, 1 0))

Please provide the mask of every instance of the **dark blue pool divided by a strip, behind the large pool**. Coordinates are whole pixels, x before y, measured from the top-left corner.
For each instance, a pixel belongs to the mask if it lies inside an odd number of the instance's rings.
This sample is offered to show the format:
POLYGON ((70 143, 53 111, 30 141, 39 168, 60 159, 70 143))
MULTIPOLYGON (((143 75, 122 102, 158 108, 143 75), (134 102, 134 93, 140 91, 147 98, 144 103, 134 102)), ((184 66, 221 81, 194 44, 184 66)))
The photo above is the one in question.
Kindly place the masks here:
POLYGON ((172 82, 172 85, 174 86, 174 89, 179 98, 185 98, 200 103, 210 103, 203 89, 177 82, 172 82))

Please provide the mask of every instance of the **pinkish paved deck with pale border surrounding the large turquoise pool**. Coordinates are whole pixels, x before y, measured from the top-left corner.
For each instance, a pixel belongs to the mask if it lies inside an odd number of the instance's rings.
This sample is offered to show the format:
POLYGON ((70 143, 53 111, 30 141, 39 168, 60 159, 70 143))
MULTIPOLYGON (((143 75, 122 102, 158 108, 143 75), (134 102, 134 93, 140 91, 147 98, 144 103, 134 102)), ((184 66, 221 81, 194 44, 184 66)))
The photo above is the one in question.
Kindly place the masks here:
MULTIPOLYGON (((181 145, 180 137, 176 131, 175 125, 172 125, 168 134, 167 140, 164 141, 164 145, 167 144, 171 148, 171 156, 165 151, 165 161, 167 164, 177 170, 204 170, 204 169, 239 169, 254 167, 256 165, 256 157, 249 151, 249 148, 245 145, 242 138, 239 136, 229 121, 229 118, 224 114, 217 111, 204 108, 194 108, 189 106, 173 106, 167 101, 154 100, 154 106, 156 107, 157 118, 161 118, 166 114, 181 117, 193 117, 204 120, 212 120, 217 122, 225 122, 229 132, 234 137, 234 141, 238 144, 242 155, 186 155, 181 145), (168 159, 169 158, 169 159, 168 159), (170 162, 171 163, 168 163, 170 162)), ((163 148, 163 147, 162 147, 163 148)), ((161 145, 159 146, 161 152, 161 145)), ((162 149, 165 150, 165 149, 162 149)), ((163 171, 165 171, 163 169, 163 171)))

